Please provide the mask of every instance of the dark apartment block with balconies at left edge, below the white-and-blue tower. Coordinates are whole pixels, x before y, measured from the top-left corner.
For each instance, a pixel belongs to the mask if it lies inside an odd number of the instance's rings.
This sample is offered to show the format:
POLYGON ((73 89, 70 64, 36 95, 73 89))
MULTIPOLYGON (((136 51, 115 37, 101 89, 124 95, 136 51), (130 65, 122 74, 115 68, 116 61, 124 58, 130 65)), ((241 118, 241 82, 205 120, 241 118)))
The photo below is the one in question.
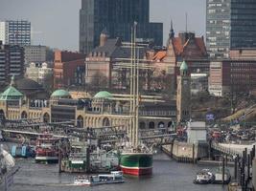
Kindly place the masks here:
POLYGON ((24 49, 17 45, 2 45, 0 41, 0 83, 9 83, 12 75, 24 74, 24 49))

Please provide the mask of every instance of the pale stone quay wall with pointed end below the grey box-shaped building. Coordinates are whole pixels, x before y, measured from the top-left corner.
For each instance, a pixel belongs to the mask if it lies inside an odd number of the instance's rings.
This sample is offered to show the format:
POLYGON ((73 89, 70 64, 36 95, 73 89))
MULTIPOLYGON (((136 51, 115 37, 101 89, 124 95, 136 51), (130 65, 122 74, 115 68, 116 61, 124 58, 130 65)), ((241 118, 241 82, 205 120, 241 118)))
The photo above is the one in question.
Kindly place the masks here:
POLYGON ((162 145, 162 150, 171 158, 180 162, 197 162, 198 159, 208 157, 207 143, 187 143, 174 141, 162 145))

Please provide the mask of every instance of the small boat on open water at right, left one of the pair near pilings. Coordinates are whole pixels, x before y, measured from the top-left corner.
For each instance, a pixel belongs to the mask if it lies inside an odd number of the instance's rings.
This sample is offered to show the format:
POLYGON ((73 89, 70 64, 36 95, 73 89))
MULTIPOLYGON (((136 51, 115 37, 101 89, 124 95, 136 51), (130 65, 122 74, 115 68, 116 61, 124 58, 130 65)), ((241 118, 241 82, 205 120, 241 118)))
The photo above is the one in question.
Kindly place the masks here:
POLYGON ((207 184, 213 183, 215 180, 214 174, 209 169, 202 169, 197 173, 194 183, 207 184))

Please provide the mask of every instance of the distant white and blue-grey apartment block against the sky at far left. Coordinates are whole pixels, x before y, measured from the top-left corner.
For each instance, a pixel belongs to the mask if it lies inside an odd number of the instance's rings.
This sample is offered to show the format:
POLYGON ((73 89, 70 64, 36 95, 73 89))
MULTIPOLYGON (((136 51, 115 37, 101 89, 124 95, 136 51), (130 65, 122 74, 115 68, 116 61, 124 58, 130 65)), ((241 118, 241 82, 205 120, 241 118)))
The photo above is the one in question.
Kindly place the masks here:
POLYGON ((26 20, 7 20, 0 22, 0 40, 10 45, 31 44, 31 23, 26 20))

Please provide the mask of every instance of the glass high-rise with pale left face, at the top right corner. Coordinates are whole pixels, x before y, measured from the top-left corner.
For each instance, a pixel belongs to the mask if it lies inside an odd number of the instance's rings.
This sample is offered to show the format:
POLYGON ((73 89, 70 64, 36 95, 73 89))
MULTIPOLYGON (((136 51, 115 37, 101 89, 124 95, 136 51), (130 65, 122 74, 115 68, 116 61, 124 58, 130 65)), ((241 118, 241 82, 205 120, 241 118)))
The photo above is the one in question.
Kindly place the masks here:
POLYGON ((211 57, 256 48, 256 0, 207 0, 206 46, 211 57))

